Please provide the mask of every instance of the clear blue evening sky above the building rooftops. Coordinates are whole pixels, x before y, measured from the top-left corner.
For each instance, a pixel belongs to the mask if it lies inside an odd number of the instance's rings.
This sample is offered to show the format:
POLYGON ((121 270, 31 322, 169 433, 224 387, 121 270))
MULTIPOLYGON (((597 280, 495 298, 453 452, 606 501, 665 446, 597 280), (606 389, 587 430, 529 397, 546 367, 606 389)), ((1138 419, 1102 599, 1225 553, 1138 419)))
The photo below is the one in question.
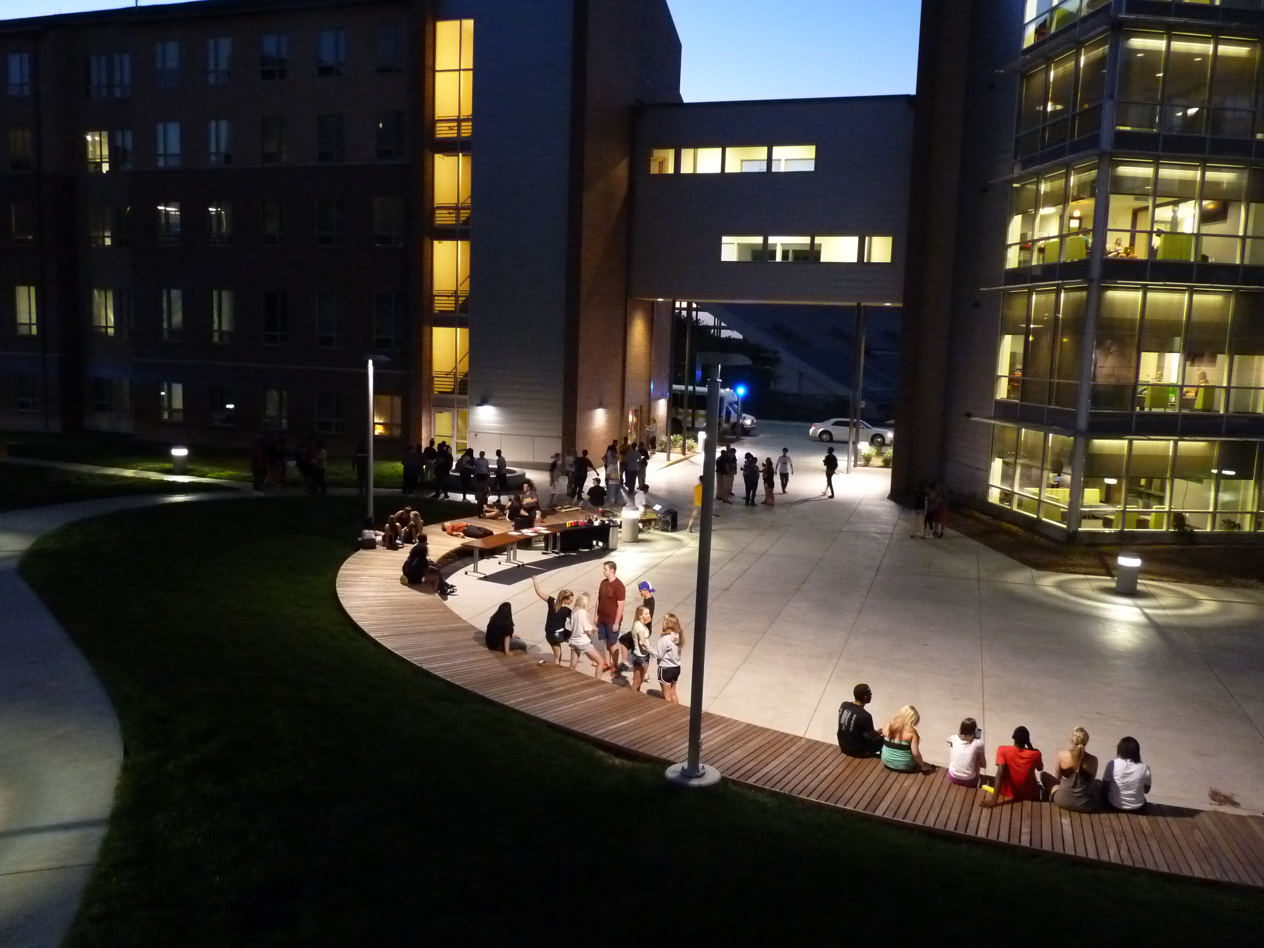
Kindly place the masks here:
MULTIPOLYGON (((153 6, 163 0, 143 0, 153 6)), ((919 0, 667 0, 684 46, 686 102, 911 92, 919 0)), ((131 6, 0 0, 0 15, 131 6)))

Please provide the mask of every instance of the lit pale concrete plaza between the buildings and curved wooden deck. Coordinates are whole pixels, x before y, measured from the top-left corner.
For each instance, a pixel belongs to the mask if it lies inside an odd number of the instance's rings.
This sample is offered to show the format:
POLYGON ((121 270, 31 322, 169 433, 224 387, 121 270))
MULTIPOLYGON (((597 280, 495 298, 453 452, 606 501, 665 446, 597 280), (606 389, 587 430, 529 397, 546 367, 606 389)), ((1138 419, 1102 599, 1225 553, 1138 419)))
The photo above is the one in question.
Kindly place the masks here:
MULTIPOLYGON (((1025 724, 1052 761, 1083 726, 1103 760, 1124 734, 1140 741, 1158 801, 1207 806, 1213 787, 1245 811, 1264 809, 1264 590, 1143 583, 1141 595, 1121 599, 1110 580, 1035 571, 951 531, 913 538, 882 469, 836 477, 837 498, 822 495, 824 450, 806 425, 766 425, 738 454, 762 460, 782 446, 796 473, 775 508, 743 507, 741 487, 733 506, 718 506, 708 710, 828 741, 839 703, 867 681, 878 723, 918 707, 935 763, 967 715, 983 727, 990 757, 1025 724)), ((675 612, 691 641, 698 535, 684 521, 702 464, 661 461, 652 498, 681 511, 681 532, 650 533, 609 559, 629 602, 648 579, 659 619, 675 612)), ((485 579, 454 574, 449 605, 482 627, 511 602, 518 635, 547 655, 531 576, 546 593, 595 595, 605 557, 521 557, 527 568, 485 562, 485 579)), ((684 702, 690 661, 686 648, 684 702)))

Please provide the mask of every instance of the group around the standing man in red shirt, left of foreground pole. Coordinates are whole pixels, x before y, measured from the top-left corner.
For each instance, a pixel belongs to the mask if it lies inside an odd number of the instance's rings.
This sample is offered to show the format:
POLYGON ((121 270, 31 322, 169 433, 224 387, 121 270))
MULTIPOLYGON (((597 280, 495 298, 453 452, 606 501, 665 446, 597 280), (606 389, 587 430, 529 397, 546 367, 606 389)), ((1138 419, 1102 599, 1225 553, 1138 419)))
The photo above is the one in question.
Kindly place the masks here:
MULTIPOLYGON (((597 604, 589 593, 560 589, 547 595, 535 579, 532 586, 549 607, 545 614, 545 641, 552 650, 552 664, 562 664, 562 651, 570 653, 569 667, 575 670, 580 657, 593 665, 593 675, 609 675, 614 683, 627 684, 640 691, 650 675, 650 662, 657 671, 662 696, 679 703, 676 683, 680 680, 680 661, 685 647, 685 632, 675 613, 662 619, 659 638, 653 640, 653 593, 648 581, 637 586, 640 602, 632 612, 632 622, 623 631, 627 589, 618 578, 618 566, 612 560, 602 564, 602 581, 597 588, 597 604), (589 614, 590 609, 595 614, 589 614), (627 675, 631 672, 631 681, 627 675)), ((508 655, 513 650, 526 651, 527 645, 513 635, 513 608, 501 603, 488 619, 484 643, 492 651, 508 655)), ((547 665, 549 659, 540 664, 547 665)))

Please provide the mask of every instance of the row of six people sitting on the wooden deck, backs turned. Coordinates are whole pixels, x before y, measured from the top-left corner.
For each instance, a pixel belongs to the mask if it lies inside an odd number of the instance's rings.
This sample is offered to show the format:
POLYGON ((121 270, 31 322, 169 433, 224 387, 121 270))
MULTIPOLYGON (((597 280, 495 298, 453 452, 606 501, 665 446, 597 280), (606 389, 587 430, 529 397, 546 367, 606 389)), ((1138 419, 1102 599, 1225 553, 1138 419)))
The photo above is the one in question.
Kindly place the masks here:
MULTIPOLYGON (((894 771, 933 774, 937 770, 921 756, 918 734, 921 715, 916 708, 906 704, 886 724, 875 728, 873 717, 865 709, 873 700, 870 686, 856 685, 852 698, 838 708, 838 748, 843 753, 880 757, 882 765, 894 771)), ((1088 732, 1083 728, 1071 732, 1069 747, 1058 753, 1054 767, 1048 771, 1025 727, 1016 727, 1011 741, 996 748, 996 775, 988 785, 983 775, 987 767, 983 732, 973 718, 966 718, 957 733, 948 737, 945 779, 959 786, 982 786, 987 791, 980 801, 982 806, 996 806, 1004 799, 1049 800, 1078 813, 1145 806, 1152 774, 1141 762, 1141 746, 1134 737, 1120 738, 1115 758, 1100 775, 1097 757, 1088 753, 1088 732)))

